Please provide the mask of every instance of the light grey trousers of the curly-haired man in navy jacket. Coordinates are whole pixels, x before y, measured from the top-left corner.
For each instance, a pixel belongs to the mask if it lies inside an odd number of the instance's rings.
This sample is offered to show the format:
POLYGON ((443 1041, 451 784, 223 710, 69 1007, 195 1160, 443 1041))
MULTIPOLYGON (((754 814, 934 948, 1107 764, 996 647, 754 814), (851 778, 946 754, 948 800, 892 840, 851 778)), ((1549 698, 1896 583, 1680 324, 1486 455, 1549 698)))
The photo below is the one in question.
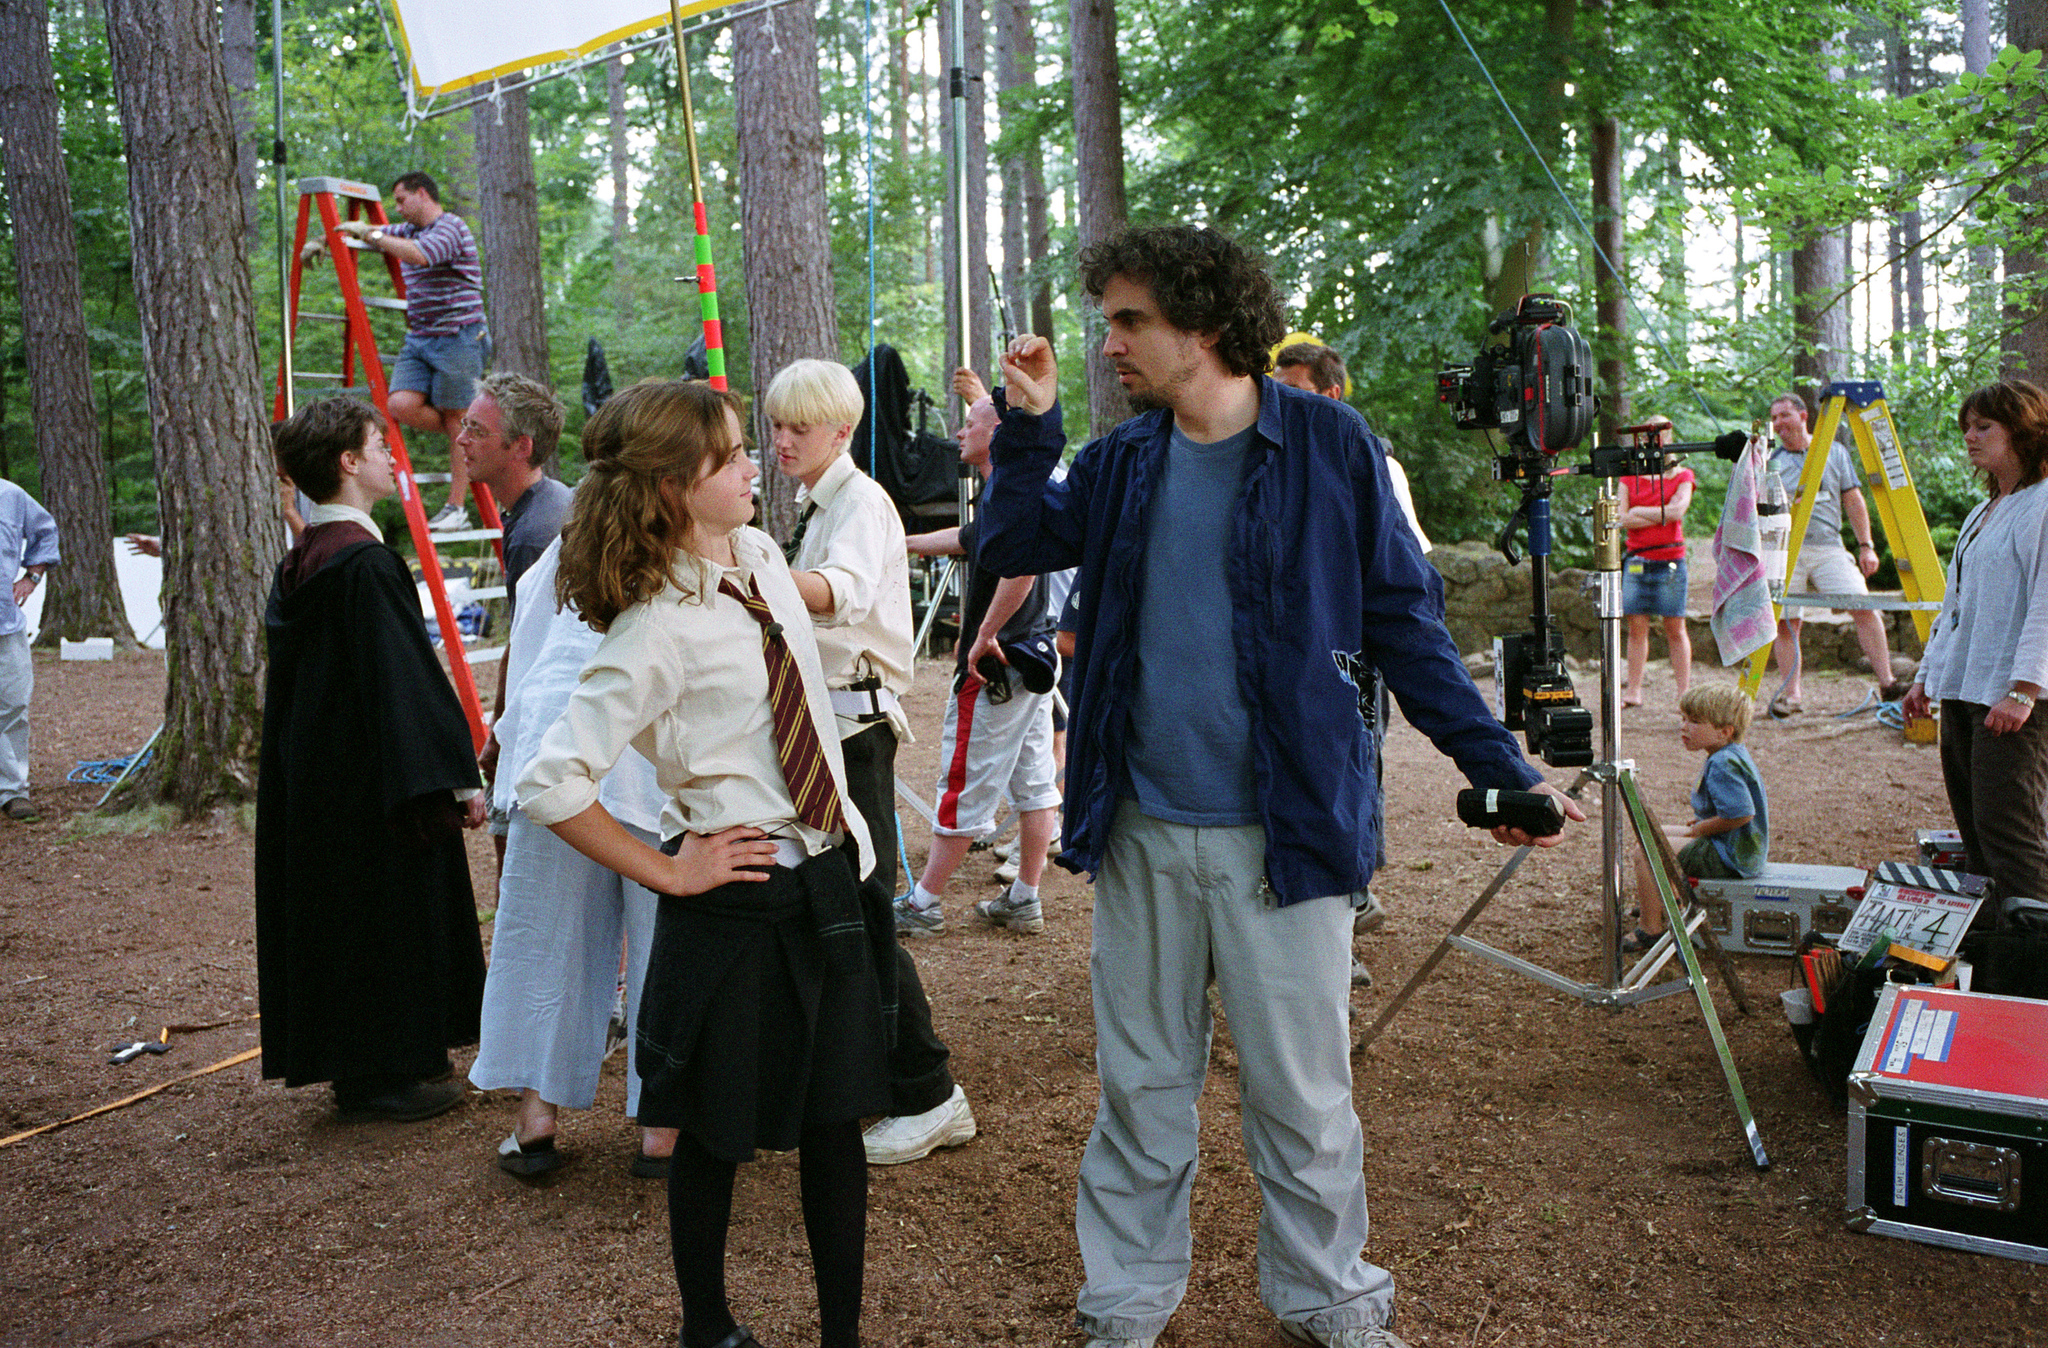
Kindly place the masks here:
POLYGON ((1188 1291, 1210 981, 1237 1045, 1266 1305, 1319 1334, 1391 1319, 1393 1278, 1362 1254, 1352 908, 1274 908, 1264 873, 1260 826, 1192 828, 1118 807, 1090 959, 1102 1104, 1073 1221, 1085 1272, 1075 1321, 1087 1334, 1159 1334, 1188 1291))

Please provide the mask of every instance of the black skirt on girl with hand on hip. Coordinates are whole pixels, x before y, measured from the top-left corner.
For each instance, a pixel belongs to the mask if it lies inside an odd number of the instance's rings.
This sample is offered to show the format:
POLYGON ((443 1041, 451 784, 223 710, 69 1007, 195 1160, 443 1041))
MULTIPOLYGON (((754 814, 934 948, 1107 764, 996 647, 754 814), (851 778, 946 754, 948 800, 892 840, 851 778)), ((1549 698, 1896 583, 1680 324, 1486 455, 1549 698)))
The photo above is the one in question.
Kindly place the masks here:
POLYGON ((854 873, 834 848, 762 883, 664 895, 637 1059, 639 1123, 743 1162, 805 1125, 889 1112, 889 1035, 854 873))

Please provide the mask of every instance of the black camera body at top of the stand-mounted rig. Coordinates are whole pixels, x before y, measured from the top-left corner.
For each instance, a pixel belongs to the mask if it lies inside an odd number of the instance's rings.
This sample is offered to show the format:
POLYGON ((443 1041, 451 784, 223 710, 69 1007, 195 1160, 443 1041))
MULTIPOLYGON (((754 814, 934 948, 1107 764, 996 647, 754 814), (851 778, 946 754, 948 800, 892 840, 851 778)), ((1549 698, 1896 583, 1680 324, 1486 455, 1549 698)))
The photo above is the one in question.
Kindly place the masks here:
POLYGON ((1470 365, 1436 377, 1436 399, 1450 404, 1458 430, 1501 430, 1509 443, 1556 455, 1593 430, 1593 350, 1567 322, 1554 295, 1524 295, 1487 330, 1507 334, 1470 365))

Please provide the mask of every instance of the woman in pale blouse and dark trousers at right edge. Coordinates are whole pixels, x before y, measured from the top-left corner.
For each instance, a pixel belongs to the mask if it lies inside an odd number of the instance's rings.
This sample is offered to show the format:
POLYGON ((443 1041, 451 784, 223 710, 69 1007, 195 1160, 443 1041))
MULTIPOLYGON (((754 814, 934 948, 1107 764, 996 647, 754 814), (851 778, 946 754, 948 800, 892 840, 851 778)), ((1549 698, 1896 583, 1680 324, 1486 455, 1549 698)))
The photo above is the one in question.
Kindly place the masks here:
POLYGON ((1942 707, 1942 781, 2003 914, 2048 899, 2048 393, 1976 389, 1956 414, 1987 500, 1962 522, 1905 713, 1942 707))

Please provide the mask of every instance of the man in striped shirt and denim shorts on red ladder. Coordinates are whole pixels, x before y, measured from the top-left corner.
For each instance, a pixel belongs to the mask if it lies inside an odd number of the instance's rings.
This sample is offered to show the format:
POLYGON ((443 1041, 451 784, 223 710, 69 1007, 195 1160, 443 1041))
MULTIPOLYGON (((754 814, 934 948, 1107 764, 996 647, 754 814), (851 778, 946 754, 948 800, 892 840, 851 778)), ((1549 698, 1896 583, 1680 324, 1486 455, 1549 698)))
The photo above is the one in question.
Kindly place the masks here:
POLYGON ((461 215, 442 209, 440 186, 424 172, 391 184, 399 219, 375 225, 342 223, 354 236, 399 260, 406 277, 406 346, 391 365, 391 416, 412 430, 449 436, 449 504, 428 529, 469 529, 469 465, 455 449, 475 381, 492 363, 483 324, 483 266, 477 240, 461 215))

